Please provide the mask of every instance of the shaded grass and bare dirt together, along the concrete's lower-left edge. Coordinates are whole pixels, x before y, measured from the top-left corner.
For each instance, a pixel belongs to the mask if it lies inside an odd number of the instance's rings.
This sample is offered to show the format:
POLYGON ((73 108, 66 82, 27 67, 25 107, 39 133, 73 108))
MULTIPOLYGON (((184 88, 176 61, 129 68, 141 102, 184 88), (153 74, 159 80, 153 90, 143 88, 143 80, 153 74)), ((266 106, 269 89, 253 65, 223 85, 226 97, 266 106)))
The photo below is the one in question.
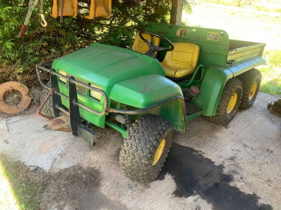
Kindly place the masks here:
POLYGON ((93 167, 74 166, 50 174, 10 160, 0 154, 1 167, 23 209, 127 209, 101 192, 102 178, 93 167))

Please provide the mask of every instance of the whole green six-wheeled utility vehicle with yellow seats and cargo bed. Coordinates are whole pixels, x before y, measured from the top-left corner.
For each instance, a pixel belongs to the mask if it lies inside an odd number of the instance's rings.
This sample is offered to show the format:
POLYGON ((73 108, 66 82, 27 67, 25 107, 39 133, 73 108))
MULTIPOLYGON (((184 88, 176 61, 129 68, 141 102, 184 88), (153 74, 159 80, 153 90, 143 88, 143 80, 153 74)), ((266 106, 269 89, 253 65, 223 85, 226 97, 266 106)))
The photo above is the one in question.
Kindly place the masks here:
POLYGON ((92 145, 91 125, 118 130, 125 138, 122 170, 150 182, 165 162, 173 129, 186 132, 200 115, 227 124, 239 107, 253 104, 261 84, 254 67, 266 64, 264 47, 229 40, 222 30, 150 23, 132 49, 93 43, 51 68, 37 64, 45 88, 37 114, 42 109, 54 117, 48 124, 56 130, 69 124, 92 145), (42 71, 50 72, 49 85, 42 71))

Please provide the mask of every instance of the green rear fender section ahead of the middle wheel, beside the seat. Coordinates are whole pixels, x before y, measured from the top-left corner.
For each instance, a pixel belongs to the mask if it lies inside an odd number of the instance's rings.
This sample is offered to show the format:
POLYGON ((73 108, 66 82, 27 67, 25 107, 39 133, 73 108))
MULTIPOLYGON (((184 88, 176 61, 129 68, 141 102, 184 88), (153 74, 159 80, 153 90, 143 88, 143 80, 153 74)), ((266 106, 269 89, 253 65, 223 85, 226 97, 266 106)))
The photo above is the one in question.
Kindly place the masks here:
POLYGON ((214 116, 216 114, 224 85, 231 77, 233 77, 233 73, 227 68, 217 65, 207 68, 199 95, 191 101, 196 107, 203 110, 203 115, 214 116))

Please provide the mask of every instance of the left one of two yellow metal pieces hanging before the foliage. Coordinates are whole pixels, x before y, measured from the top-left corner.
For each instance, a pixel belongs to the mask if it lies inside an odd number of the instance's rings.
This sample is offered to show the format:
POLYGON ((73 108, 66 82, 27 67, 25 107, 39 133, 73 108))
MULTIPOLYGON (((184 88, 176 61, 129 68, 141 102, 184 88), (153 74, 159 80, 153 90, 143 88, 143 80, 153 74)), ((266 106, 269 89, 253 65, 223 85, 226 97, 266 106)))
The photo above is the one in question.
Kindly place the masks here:
POLYGON ((57 18, 61 16, 61 5, 63 5, 62 16, 77 16, 78 0, 54 0, 51 14, 52 17, 57 18))

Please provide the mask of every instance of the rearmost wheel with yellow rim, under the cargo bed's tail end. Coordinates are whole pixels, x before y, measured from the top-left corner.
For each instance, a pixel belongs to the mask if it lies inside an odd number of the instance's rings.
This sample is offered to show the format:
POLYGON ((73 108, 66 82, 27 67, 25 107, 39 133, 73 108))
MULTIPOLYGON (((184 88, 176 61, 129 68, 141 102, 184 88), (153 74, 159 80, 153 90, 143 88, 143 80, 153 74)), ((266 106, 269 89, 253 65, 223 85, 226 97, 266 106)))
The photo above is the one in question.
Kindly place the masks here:
POLYGON ((253 68, 238 76, 243 84, 241 109, 248 109, 254 103, 257 93, 260 90, 262 74, 259 70, 253 68))

